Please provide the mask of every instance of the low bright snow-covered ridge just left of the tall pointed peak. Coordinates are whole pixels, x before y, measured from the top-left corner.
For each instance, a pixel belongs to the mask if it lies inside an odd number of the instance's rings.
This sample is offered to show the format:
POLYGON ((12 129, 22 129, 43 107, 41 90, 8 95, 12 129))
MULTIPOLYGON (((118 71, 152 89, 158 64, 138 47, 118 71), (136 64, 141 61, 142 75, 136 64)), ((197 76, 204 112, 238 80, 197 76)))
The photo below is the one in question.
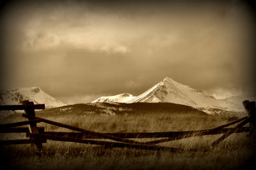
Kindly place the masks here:
POLYGON ((116 103, 126 103, 129 100, 132 100, 134 96, 129 93, 122 93, 120 95, 109 96, 109 97, 100 97, 94 100, 92 103, 96 102, 116 102, 116 103))

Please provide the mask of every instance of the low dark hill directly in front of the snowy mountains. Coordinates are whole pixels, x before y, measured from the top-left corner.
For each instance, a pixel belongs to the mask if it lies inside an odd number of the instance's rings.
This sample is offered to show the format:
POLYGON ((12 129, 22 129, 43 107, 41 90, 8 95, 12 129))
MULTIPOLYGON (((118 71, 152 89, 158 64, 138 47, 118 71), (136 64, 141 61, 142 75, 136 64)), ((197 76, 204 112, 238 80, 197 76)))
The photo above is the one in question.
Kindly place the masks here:
POLYGON ((205 115, 205 112, 199 111, 193 107, 172 103, 134 103, 134 104, 120 104, 120 103, 94 103, 94 104, 74 104, 58 107, 54 109, 47 109, 38 112, 38 115, 53 116, 75 114, 76 116, 90 116, 95 114, 103 115, 127 115, 127 114, 195 114, 205 115))

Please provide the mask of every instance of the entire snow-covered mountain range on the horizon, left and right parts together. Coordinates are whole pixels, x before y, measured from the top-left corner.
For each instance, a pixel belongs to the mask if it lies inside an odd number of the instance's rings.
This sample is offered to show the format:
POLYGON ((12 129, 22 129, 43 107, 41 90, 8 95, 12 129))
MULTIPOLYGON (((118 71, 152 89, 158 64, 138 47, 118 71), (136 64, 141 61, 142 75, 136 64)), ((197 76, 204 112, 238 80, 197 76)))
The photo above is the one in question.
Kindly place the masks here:
MULTIPOLYGON (((41 88, 13 88, 0 90, 0 105, 17 105, 22 100, 30 100, 35 104, 45 104, 46 109, 65 106, 63 102, 45 93, 41 88)), ((137 97, 122 93, 120 95, 100 97, 92 103, 124 103, 138 102, 187 105, 208 114, 221 114, 225 112, 244 113, 242 102, 255 101, 256 97, 229 97, 214 98, 203 91, 191 88, 166 77, 137 97)))

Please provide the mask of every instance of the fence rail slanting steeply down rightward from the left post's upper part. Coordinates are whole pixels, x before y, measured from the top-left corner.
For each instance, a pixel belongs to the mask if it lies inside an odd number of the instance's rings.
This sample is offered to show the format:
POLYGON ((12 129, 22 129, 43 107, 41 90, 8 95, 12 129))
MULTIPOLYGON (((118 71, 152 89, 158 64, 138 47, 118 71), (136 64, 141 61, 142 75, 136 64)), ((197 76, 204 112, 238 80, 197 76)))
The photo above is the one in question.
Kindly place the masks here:
MULTIPOLYGON (((38 118, 36 116, 30 116, 28 114, 22 114, 22 116, 24 116, 26 118, 31 118, 31 119, 37 119, 38 118)), ((124 139, 124 138, 116 137, 116 136, 113 136, 113 135, 107 135, 107 134, 102 134, 100 132, 93 132, 93 131, 90 131, 90 130, 85 130, 83 128, 73 127, 71 125, 65 125, 63 123, 58 123, 56 121, 45 120, 43 118, 40 118, 40 120, 44 123, 49 123, 51 125, 56 125, 58 127, 68 128, 70 130, 76 130, 78 132, 85 132, 87 134, 96 135, 96 136, 99 136, 99 137, 104 137, 104 139, 112 139, 113 141, 118 141, 118 142, 122 142, 122 143, 144 144, 144 143, 141 143, 141 142, 138 142, 138 141, 133 141, 133 140, 130 140, 130 139, 124 139)))

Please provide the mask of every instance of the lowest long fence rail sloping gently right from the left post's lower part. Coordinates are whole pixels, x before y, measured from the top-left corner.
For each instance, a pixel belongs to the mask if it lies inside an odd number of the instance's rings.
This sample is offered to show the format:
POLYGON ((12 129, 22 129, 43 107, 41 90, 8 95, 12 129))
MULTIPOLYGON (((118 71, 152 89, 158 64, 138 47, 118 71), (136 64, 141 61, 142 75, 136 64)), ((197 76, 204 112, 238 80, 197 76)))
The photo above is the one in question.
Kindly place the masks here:
POLYGON ((72 137, 60 137, 60 136, 52 136, 52 135, 42 135, 42 134, 29 134, 32 137, 44 137, 46 139, 52 141, 65 141, 65 142, 74 142, 74 143, 84 143, 84 144, 97 144, 107 147, 118 147, 118 148, 134 148, 134 149, 141 149, 141 150, 168 150, 174 152, 180 151, 198 151, 198 150, 184 150, 180 148, 172 148, 172 147, 164 147, 164 146, 156 146, 156 145, 149 145, 149 144, 128 144, 128 143, 116 143, 110 141, 96 141, 96 140, 89 140, 89 139, 76 139, 72 137))

